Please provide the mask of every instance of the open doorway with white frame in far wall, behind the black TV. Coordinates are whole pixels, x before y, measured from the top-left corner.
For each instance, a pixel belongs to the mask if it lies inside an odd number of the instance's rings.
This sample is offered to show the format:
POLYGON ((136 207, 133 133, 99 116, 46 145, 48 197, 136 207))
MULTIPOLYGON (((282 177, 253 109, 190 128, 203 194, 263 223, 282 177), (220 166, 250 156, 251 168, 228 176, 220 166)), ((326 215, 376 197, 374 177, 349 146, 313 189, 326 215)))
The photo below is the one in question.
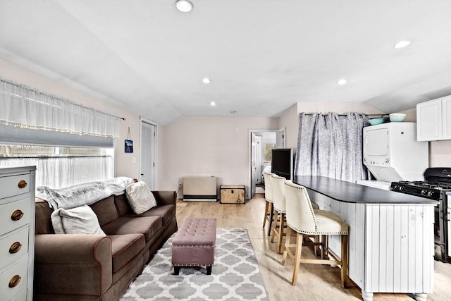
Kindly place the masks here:
POLYGON ((285 128, 279 130, 249 130, 248 199, 255 195, 257 185, 263 183, 262 173, 271 168, 271 149, 285 147, 285 128))

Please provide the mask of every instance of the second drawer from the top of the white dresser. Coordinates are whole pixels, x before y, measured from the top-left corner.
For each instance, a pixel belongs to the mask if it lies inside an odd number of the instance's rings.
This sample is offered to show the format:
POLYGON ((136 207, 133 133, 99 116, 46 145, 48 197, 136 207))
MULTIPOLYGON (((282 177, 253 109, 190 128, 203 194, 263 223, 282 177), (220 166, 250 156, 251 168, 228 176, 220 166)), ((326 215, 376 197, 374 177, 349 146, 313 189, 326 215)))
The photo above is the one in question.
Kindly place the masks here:
POLYGON ((0 205, 0 235, 29 224, 30 210, 30 197, 0 205))

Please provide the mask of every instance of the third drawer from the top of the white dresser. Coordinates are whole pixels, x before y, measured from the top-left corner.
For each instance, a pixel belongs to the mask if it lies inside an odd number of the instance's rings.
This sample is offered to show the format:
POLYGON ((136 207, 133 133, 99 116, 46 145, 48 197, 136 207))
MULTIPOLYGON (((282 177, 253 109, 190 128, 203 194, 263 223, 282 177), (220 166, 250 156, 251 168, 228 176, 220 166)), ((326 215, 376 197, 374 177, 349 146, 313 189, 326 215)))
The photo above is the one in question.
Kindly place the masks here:
POLYGON ((25 226, 0 237, 0 270, 26 256, 28 253, 28 232, 30 227, 25 226))

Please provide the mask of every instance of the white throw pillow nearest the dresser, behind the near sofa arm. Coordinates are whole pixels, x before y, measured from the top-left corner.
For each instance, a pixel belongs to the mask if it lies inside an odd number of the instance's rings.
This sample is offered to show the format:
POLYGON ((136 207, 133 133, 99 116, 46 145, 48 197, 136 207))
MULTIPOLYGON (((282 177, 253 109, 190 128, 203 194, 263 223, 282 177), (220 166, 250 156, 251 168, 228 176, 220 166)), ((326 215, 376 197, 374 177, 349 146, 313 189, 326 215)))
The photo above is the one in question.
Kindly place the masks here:
POLYGON ((87 205, 56 209, 51 214, 51 223, 56 234, 106 235, 100 228, 97 215, 87 205))

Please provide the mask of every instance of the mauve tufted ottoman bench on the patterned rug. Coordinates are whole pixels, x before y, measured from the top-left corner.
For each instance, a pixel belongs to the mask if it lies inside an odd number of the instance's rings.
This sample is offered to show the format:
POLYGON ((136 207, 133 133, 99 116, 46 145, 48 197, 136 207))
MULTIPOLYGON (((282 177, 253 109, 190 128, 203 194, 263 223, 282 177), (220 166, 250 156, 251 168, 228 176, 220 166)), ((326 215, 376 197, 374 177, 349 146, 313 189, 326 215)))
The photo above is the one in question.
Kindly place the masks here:
POLYGON ((186 219, 172 241, 174 274, 181 266, 206 266, 206 274, 211 275, 215 245, 216 219, 186 219))

